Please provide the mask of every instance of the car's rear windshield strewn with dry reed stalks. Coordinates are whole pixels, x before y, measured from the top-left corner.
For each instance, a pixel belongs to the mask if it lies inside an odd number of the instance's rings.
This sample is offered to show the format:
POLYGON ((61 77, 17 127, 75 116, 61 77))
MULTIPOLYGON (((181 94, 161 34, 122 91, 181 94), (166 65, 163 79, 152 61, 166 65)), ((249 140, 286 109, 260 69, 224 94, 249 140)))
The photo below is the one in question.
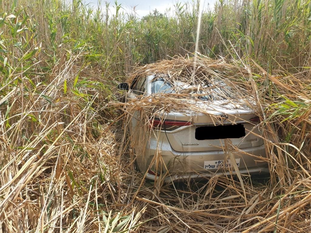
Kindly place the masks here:
POLYGON ((174 85, 164 78, 156 78, 151 81, 151 94, 155 93, 179 93, 189 94, 193 98, 201 100, 222 100, 232 98, 232 90, 224 82, 218 80, 214 84, 203 86, 203 90, 198 90, 193 85, 175 82, 174 85))

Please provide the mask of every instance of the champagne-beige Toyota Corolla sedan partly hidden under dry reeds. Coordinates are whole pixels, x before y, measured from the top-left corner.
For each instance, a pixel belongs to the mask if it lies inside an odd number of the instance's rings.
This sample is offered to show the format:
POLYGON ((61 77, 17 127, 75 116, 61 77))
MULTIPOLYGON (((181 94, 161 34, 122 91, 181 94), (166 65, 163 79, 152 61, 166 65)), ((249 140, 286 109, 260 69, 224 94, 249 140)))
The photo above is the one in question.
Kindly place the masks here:
POLYGON ((136 106, 128 111, 127 125, 146 178, 169 182, 269 172, 260 118, 240 97, 234 101, 234 91, 223 81, 198 90, 191 81, 151 74, 118 88, 127 91, 127 106, 136 106))

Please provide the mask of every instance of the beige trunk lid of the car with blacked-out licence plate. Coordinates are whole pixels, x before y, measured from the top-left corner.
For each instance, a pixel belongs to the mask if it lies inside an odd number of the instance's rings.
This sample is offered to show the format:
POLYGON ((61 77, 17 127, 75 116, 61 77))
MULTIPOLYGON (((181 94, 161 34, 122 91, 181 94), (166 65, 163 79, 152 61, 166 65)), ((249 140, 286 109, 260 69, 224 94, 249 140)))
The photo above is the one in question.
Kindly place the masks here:
MULTIPOLYGON (((258 116, 239 105, 214 103, 202 113, 170 112, 165 121, 191 122, 188 125, 165 130, 171 147, 178 152, 217 151, 224 147, 224 139, 240 149, 263 144, 257 126, 258 116), (257 121, 257 122, 256 122, 257 121)), ((180 124, 180 123, 179 123, 180 124)))

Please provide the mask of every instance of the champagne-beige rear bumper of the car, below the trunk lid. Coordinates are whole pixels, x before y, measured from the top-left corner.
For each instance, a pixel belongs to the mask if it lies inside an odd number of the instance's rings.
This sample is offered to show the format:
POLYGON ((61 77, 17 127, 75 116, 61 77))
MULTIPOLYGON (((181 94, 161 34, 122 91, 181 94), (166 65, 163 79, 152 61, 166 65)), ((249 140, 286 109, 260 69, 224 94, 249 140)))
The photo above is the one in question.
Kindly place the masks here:
MULTIPOLYGON (((269 172, 268 164, 265 161, 266 151, 265 146, 250 147, 230 151, 229 153, 223 150, 207 151, 207 152, 177 152, 169 145, 168 141, 163 138, 161 144, 153 143, 151 139, 146 145, 146 150, 142 158, 137 158, 137 165, 140 171, 146 173, 146 178, 155 180, 156 176, 148 173, 151 168, 152 171, 157 171, 157 174, 168 174, 165 182, 185 179, 200 179, 204 177, 211 177, 215 175, 230 175, 236 174, 234 167, 218 168, 218 169, 204 169, 204 161, 228 160, 232 158, 239 159, 240 165, 238 167, 241 174, 259 174, 261 172, 269 172), (160 148, 159 148, 160 147, 160 148), (155 161, 155 154, 160 155, 161 162, 158 162, 158 167, 149 167, 151 161, 155 161), (162 165, 159 165, 161 164, 162 165), (163 166, 163 163, 165 166, 163 166)), ((158 160, 159 161, 159 160, 158 160)), ((152 172, 151 172, 152 173, 152 172)))

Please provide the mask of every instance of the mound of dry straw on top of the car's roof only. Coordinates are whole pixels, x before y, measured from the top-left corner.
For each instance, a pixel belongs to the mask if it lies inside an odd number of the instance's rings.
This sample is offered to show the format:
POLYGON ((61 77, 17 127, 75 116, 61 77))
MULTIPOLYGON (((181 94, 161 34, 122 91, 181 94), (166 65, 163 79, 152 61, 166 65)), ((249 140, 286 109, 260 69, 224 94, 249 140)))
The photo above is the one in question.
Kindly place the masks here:
POLYGON ((216 79, 226 82, 231 87, 241 85, 241 88, 244 89, 246 87, 245 82, 238 82, 238 80, 242 79, 247 82, 249 75, 251 75, 244 67, 232 65, 224 60, 198 57, 196 66, 194 66, 194 59, 173 57, 172 60, 148 64, 137 68, 130 75, 128 81, 131 83, 138 76, 153 74, 161 76, 164 74, 170 82, 183 82, 196 87, 200 86, 199 88, 210 85, 216 79))

